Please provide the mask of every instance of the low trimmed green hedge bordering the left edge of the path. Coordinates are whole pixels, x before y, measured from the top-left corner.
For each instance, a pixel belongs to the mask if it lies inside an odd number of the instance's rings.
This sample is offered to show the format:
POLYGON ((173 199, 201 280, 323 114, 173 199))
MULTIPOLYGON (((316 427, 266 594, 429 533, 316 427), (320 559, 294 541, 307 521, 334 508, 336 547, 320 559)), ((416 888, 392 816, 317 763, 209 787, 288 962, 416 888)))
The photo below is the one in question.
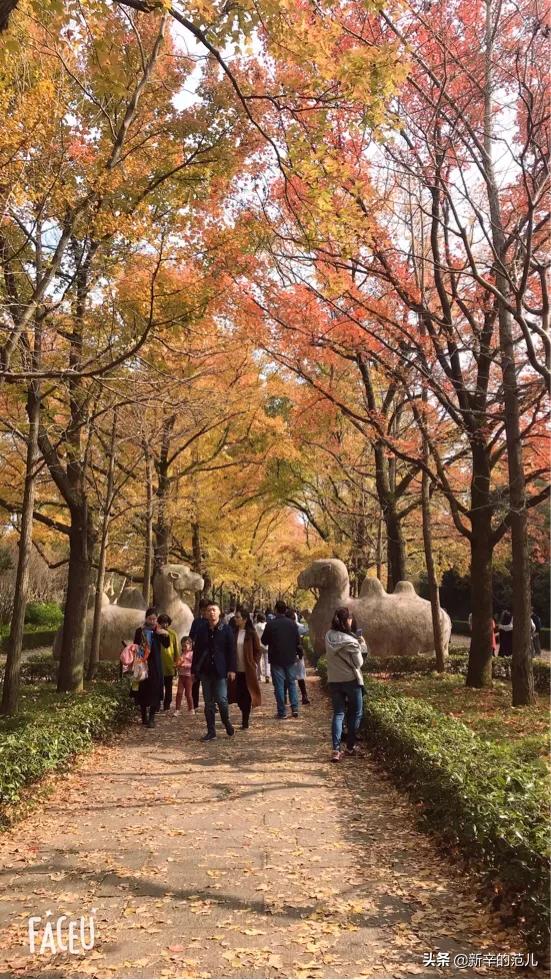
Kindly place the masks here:
POLYGON ((54 710, 13 733, 0 732, 0 825, 23 790, 48 772, 64 769, 78 752, 108 737, 132 716, 126 684, 96 684, 83 695, 60 695, 54 710))

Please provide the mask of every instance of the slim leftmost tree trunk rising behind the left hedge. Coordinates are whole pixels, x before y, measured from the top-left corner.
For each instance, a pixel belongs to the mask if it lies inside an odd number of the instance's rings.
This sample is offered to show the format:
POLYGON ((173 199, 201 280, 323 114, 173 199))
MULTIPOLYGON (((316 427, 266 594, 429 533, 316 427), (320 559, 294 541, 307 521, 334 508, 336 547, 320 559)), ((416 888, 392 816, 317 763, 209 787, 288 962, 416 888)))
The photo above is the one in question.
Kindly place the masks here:
POLYGON ((36 486, 35 465, 38 454, 38 424, 40 418, 40 394, 38 386, 34 384, 29 386, 27 415, 29 417, 27 465, 23 506, 21 510, 21 532, 19 537, 13 613, 8 640, 4 686, 2 689, 2 704, 0 706, 0 713, 3 715, 15 714, 19 701, 21 650, 23 646, 23 628, 29 589, 29 562, 32 552, 33 509, 36 486))

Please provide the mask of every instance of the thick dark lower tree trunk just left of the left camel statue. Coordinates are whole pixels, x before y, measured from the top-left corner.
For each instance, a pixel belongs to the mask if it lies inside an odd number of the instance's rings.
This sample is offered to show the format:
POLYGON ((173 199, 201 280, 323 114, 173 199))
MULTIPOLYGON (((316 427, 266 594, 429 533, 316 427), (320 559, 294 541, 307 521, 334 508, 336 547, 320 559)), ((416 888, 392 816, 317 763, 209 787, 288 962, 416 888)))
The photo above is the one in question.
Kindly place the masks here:
POLYGON ((94 536, 89 526, 88 508, 84 504, 82 507, 71 511, 69 579, 65 596, 63 636, 57 678, 58 691, 81 691, 83 689, 86 613, 93 545, 94 536))

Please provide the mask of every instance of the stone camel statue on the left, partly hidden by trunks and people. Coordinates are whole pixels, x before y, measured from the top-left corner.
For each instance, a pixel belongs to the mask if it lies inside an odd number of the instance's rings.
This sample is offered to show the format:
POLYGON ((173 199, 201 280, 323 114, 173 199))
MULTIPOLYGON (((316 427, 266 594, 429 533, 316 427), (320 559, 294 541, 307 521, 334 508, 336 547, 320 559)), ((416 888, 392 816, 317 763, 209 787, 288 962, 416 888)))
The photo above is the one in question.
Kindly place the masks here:
MULTIPOLYGON (((193 572, 188 565, 164 565, 155 572, 153 577, 154 605, 159 612, 167 613, 172 619, 172 629, 178 639, 187 636, 193 621, 193 612, 183 601, 182 595, 189 592, 199 592, 203 588, 203 579, 193 572)), ((137 590, 132 590, 137 591, 137 590)), ((121 597, 122 598, 122 597, 121 597)), ((143 603, 143 598, 142 598, 143 603)), ((101 608, 100 660, 118 660, 123 643, 131 643, 138 626, 144 621, 145 603, 141 608, 131 608, 110 603, 103 596, 101 608)), ((90 652, 92 636, 93 609, 86 616, 86 646, 85 660, 90 652)), ((62 628, 56 633, 53 654, 59 659, 61 650, 62 628)))

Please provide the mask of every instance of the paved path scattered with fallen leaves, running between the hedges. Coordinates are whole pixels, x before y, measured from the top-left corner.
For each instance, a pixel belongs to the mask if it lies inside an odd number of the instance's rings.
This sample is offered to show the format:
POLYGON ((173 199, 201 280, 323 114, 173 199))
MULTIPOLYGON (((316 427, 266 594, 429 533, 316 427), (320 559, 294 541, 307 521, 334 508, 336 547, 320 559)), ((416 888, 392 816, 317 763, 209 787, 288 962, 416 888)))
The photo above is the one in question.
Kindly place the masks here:
MULTIPOLYGON (((98 748, 0 838, 2 977, 522 975, 423 965, 519 952, 369 760, 329 762, 329 710, 198 739, 161 717, 98 748), (83 955, 31 956, 28 918, 95 909, 83 955)), ((237 709, 232 708, 237 715, 237 709)), ((534 974, 532 974, 534 975, 534 974)))

